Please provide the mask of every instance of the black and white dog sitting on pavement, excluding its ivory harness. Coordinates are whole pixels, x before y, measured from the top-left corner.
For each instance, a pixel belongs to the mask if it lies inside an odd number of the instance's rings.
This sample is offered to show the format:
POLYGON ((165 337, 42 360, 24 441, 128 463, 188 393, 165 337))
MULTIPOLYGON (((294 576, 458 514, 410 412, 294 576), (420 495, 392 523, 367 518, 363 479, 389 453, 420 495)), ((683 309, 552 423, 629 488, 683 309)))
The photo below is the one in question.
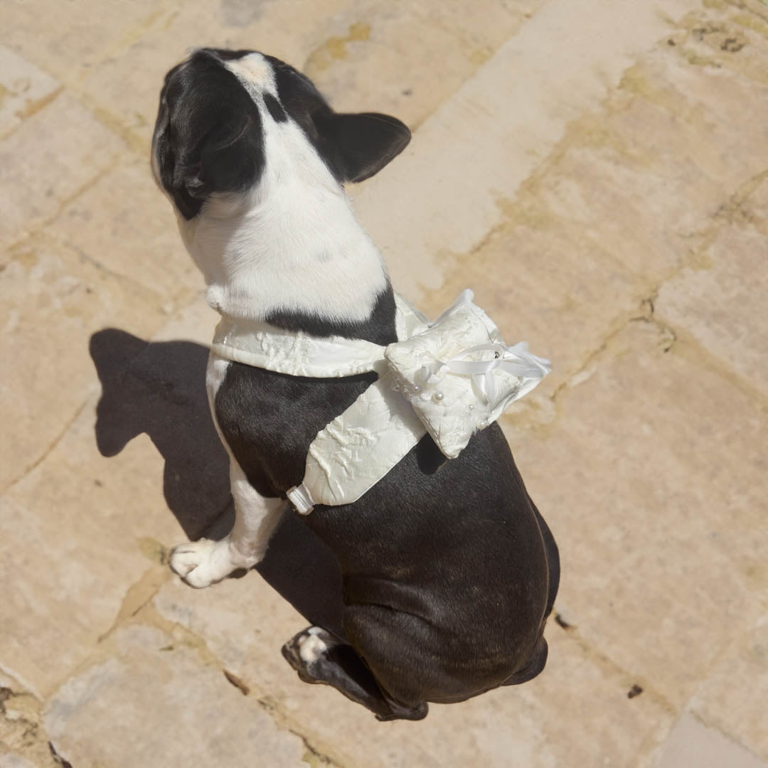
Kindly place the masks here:
MULTIPOLYGON (((343 184, 376 174, 409 139, 384 114, 336 114, 308 78, 260 53, 203 48, 171 69, 152 167, 211 306, 313 336, 396 341, 386 268, 343 184)), ((174 549, 187 584, 263 558, 310 442, 375 379, 286 376, 211 355, 237 519, 222 541, 174 549)), ((336 554, 345 604, 343 638, 309 627, 283 648, 303 680, 380 720, 419 720, 429 701, 543 669, 558 550, 498 425, 451 461, 427 435, 359 501, 303 520, 336 554)))

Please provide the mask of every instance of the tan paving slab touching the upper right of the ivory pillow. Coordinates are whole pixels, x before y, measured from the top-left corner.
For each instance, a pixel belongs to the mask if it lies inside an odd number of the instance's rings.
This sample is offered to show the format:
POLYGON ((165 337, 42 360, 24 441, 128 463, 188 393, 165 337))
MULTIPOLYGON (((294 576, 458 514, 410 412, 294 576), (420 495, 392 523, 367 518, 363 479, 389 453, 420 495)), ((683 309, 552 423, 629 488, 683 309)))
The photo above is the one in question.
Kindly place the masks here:
MULTIPOLYGON (((547 188, 578 179, 553 168, 547 188)), ((551 394, 584 364, 610 330, 644 313, 647 285, 603 250, 584 228, 559 218, 540 198, 526 198, 525 212, 510 206, 510 220, 475 252, 445 264, 445 282, 426 293, 420 308, 436 317, 472 287, 475 301, 508 344, 525 340, 552 359, 550 376, 508 412, 516 421, 537 411, 547 422, 551 394)))

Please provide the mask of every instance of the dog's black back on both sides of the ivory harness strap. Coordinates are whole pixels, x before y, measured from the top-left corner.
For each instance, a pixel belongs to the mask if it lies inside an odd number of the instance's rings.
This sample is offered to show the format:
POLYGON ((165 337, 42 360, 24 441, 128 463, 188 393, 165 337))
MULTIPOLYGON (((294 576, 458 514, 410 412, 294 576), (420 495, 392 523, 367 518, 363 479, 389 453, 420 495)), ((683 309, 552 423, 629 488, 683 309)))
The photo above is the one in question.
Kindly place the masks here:
MULTIPOLYGON (((301 481, 316 432, 373 377, 232 363, 217 422, 253 485, 280 495, 301 481)), ((304 519, 341 565, 346 639, 398 700, 465 699, 541 656, 558 553, 498 425, 451 461, 427 435, 357 502, 304 519)))

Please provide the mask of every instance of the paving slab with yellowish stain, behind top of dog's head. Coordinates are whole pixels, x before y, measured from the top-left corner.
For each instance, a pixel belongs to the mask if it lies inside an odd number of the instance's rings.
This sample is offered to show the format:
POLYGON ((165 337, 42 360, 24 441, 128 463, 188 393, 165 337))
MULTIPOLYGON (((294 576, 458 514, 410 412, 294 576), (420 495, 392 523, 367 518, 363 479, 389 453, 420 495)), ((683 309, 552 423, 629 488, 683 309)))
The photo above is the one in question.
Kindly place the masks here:
POLYGON ((93 68, 77 89, 127 128, 134 147, 148 151, 165 72, 197 45, 250 48, 307 71, 339 109, 390 111, 416 125, 538 4, 483 0, 472 14, 436 0, 418 8, 351 0, 181 5, 93 68), (175 50, 169 40, 177 41, 175 50))

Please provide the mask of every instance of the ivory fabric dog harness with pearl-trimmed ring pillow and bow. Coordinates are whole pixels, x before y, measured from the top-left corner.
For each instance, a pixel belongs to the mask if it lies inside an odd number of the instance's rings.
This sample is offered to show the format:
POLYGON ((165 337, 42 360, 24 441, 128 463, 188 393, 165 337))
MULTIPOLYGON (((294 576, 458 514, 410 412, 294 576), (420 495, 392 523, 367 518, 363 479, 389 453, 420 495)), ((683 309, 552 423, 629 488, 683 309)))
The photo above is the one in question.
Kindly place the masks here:
POLYGON ((249 366, 335 379, 376 371, 379 379, 321 429, 304 479, 287 496, 308 515, 315 505, 356 502, 429 432, 448 458, 495 422, 551 370, 525 342, 506 346, 471 290, 434 323, 396 294, 398 341, 317 339, 268 323, 223 316, 211 349, 249 366))

